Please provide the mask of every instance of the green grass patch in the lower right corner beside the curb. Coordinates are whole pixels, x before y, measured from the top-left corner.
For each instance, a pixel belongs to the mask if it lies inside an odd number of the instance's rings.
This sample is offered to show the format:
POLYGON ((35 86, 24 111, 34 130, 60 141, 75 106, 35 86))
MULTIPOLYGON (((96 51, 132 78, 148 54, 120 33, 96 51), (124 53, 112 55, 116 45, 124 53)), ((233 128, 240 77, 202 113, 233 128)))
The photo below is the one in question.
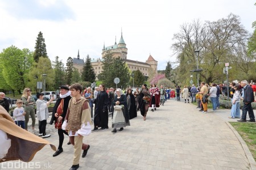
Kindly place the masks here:
POLYGON ((256 124, 255 123, 242 123, 242 122, 229 122, 234 129, 246 142, 254 160, 256 161, 256 124))

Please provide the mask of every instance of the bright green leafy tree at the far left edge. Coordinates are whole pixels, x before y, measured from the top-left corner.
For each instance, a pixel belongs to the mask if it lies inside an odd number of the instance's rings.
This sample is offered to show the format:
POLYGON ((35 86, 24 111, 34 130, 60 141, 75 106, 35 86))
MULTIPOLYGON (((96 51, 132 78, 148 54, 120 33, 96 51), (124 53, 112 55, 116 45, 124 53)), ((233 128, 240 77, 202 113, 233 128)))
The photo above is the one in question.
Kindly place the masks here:
POLYGON ((25 74, 30 70, 33 58, 28 49, 18 49, 10 46, 3 49, 0 54, 2 75, 5 82, 21 94, 21 90, 26 86, 25 74))

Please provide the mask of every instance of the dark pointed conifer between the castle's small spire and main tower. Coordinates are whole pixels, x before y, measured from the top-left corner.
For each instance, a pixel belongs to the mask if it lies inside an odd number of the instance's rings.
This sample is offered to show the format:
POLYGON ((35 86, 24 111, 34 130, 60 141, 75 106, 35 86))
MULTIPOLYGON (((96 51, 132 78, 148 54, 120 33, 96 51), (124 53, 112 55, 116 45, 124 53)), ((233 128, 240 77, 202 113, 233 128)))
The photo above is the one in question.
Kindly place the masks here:
POLYGON ((82 80, 93 83, 96 79, 96 74, 90 61, 91 59, 89 55, 87 55, 84 67, 82 68, 82 80))

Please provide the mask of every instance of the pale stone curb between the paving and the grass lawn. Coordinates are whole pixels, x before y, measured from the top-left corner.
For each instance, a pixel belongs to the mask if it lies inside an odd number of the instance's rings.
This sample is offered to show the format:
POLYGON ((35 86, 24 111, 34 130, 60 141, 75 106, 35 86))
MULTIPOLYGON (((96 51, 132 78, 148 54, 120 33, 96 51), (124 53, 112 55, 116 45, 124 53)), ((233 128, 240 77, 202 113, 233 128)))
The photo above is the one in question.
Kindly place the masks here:
POLYGON ((249 160, 249 164, 252 170, 256 170, 256 162, 253 158, 253 155, 251 155, 251 152, 248 148, 248 146, 246 145, 245 141, 243 141, 242 137, 240 136, 240 134, 237 132, 236 129, 233 128, 232 125, 229 124, 229 122, 226 122, 226 124, 229 126, 229 128, 233 131, 233 133, 236 135, 238 141, 241 143, 243 151, 245 151, 245 155, 247 157, 247 159, 249 160))

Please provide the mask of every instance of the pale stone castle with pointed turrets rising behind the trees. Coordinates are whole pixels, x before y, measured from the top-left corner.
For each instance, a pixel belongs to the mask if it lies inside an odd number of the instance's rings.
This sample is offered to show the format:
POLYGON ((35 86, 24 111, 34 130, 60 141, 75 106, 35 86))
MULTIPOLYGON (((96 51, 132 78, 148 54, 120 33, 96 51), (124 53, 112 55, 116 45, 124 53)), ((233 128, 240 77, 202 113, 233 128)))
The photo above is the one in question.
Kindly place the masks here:
MULTIPOLYGON (((117 58, 120 57, 125 61, 131 71, 139 70, 144 76, 150 76, 150 74, 158 74, 158 61, 156 61, 151 55, 148 57, 146 62, 134 61, 131 59, 127 59, 127 48, 125 41, 123 40, 123 35, 121 32, 121 39, 117 44, 117 40, 115 39, 115 44, 111 46, 106 46, 105 44, 102 48, 101 57, 94 59, 92 58, 91 63, 93 69, 96 73, 96 76, 101 73, 103 63, 106 52, 111 52, 113 57, 117 58)), ((84 66, 84 59, 80 59, 80 55, 78 52, 77 58, 73 58, 73 66, 82 72, 82 67, 84 66)))

